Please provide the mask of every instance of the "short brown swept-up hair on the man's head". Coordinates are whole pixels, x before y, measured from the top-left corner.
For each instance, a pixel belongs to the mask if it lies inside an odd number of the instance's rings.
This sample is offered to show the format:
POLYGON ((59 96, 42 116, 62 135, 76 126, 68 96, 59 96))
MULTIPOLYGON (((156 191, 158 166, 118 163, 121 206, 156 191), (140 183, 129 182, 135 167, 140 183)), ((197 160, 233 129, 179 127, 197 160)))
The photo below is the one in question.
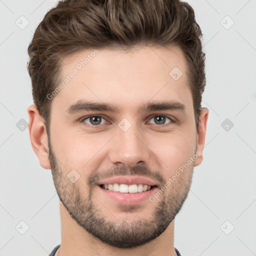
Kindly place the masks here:
POLYGON ((178 45, 188 67, 196 129, 205 86, 202 33, 194 10, 180 0, 63 0, 37 26, 28 46, 27 69, 34 104, 47 127, 61 60, 82 49, 178 45))

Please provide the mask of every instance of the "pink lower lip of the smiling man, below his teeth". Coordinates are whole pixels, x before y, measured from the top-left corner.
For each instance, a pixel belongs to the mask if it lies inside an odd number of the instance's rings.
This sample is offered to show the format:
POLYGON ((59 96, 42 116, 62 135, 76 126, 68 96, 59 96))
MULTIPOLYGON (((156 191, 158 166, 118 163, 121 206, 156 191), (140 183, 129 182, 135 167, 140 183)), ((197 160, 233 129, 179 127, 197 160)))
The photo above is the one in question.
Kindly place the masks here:
POLYGON ((121 204, 135 204, 140 203, 149 198, 149 196, 157 190, 154 186, 150 190, 137 192, 137 193, 121 193, 116 191, 110 191, 108 189, 102 188, 99 185, 97 187, 104 193, 105 196, 117 201, 121 204))

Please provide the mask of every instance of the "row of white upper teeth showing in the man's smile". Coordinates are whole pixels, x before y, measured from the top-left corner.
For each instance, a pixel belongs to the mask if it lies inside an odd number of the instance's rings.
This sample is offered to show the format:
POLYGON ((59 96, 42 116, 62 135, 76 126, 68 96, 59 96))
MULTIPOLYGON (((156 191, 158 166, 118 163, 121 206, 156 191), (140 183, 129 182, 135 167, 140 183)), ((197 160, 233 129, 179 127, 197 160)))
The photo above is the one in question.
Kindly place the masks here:
POLYGON ((103 187, 105 189, 108 189, 110 191, 116 191, 121 193, 137 193, 137 192, 143 192, 147 191, 151 188, 150 185, 145 184, 104 184, 103 187))

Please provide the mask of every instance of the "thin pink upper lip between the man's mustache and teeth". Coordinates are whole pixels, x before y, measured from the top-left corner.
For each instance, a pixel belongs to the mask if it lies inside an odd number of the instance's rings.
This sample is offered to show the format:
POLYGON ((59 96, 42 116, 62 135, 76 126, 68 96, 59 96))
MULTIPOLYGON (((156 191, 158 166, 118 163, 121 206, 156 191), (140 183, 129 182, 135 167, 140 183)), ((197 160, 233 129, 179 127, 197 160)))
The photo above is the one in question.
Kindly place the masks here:
POLYGON ((146 185, 150 185, 150 186, 154 186, 157 185, 156 182, 142 177, 142 176, 115 176, 115 177, 111 177, 111 178, 107 178, 107 179, 103 179, 100 180, 97 185, 102 185, 102 184, 114 184, 114 183, 118 183, 118 184, 127 184, 127 185, 131 185, 131 184, 146 184, 146 185))

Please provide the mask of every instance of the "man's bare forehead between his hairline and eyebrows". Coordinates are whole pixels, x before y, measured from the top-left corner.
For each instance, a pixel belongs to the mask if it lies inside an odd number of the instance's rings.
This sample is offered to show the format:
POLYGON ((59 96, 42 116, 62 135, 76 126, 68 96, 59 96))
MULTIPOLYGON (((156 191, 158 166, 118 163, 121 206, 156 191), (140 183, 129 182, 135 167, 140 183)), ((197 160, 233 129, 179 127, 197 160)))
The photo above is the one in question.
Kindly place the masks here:
POLYGON ((77 100, 111 102, 132 110, 149 100, 192 104, 183 52, 178 46, 132 50, 86 49, 62 60, 58 108, 77 100))

